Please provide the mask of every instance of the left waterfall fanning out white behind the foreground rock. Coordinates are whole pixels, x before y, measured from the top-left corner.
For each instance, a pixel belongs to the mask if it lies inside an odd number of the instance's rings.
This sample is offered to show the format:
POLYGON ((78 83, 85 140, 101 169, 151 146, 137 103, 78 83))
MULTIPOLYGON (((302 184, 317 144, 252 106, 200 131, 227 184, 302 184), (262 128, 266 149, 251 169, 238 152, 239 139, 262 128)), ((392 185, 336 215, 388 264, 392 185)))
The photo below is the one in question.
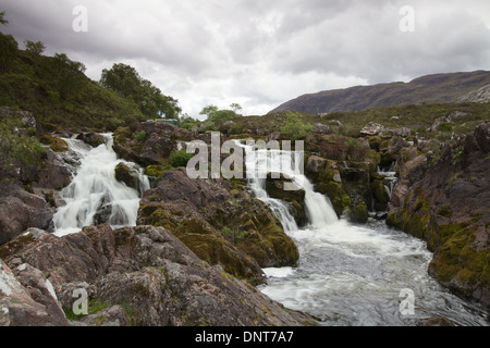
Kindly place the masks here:
POLYGON ((82 140, 64 139, 81 164, 72 183, 61 192, 65 206, 59 208, 53 217, 58 236, 78 232, 97 222, 112 226, 136 225, 139 196, 149 189, 149 181, 139 171, 139 192, 118 182, 114 169, 124 161, 118 160, 112 149, 112 135, 102 136, 105 144, 97 148, 82 140))

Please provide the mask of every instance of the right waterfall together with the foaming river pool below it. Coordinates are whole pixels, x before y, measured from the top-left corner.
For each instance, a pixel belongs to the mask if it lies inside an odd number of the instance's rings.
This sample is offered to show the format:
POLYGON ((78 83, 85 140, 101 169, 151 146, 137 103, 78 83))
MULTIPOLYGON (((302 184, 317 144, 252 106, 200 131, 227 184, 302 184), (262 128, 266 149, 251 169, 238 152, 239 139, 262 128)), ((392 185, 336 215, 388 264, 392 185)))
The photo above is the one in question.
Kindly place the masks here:
POLYGON ((264 294, 320 318, 323 325, 406 325, 438 315, 458 325, 488 325, 482 306, 454 296, 428 275, 432 254, 425 243, 380 221, 358 226, 339 220, 329 200, 291 169, 291 153, 257 150, 257 156, 250 147, 245 150, 249 188, 299 249, 296 268, 264 270, 264 294), (267 173, 282 173, 305 190, 309 226, 299 229, 287 207, 267 195, 267 173), (404 289, 415 294, 413 314, 400 311, 404 289))

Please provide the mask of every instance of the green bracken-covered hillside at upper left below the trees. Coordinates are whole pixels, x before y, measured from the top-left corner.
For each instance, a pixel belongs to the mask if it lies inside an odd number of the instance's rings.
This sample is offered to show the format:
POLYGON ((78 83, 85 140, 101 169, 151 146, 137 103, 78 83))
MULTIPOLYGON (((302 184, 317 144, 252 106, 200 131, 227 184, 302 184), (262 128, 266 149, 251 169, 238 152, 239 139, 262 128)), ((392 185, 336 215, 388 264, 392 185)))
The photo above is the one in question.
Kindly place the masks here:
POLYGON ((33 54, 10 40, 13 49, 2 55, 0 105, 29 111, 51 130, 114 130, 147 119, 133 101, 85 76, 83 63, 65 54, 33 54))

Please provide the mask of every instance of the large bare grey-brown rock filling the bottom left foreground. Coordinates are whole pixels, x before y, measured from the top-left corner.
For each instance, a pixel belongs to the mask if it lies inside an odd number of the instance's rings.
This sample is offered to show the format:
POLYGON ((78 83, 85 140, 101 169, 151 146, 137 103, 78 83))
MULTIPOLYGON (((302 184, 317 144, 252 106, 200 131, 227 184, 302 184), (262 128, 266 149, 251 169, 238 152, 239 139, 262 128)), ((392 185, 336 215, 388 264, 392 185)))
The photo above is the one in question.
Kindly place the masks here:
POLYGON ((316 325, 162 227, 37 232, 0 247, 0 258, 1 325, 316 325), (88 315, 74 316, 83 294, 88 315))

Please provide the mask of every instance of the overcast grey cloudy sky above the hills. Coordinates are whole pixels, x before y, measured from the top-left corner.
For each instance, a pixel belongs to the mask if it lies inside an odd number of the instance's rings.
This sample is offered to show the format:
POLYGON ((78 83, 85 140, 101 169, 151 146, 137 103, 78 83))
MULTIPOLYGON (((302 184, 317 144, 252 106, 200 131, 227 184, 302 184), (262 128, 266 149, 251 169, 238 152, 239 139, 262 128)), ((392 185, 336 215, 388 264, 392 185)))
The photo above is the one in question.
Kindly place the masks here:
POLYGON ((23 47, 66 53, 99 80, 123 62, 184 113, 265 114, 299 95, 490 70, 488 0, 0 0, 23 47), (87 32, 73 10, 87 10, 87 32), (415 32, 408 12, 414 10, 415 32))

